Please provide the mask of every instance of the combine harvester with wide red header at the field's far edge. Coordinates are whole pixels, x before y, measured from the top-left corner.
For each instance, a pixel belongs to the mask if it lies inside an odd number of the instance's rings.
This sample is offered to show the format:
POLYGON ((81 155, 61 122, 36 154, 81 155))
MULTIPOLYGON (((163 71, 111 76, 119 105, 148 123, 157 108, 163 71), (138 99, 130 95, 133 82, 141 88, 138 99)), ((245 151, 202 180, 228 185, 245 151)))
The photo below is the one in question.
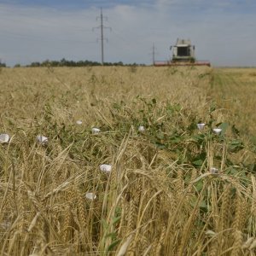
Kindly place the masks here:
POLYGON ((211 67, 210 61, 195 60, 195 45, 190 40, 178 39, 177 43, 170 47, 172 50, 171 61, 154 61, 154 66, 208 66, 211 67))

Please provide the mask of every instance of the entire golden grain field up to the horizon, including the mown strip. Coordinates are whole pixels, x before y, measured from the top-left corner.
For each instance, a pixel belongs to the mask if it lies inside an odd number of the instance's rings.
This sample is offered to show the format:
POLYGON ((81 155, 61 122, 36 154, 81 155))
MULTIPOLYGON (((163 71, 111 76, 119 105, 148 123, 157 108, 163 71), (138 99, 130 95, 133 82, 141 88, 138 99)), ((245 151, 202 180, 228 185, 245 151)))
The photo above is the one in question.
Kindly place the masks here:
POLYGON ((1 255, 256 255, 254 74, 2 68, 1 255))

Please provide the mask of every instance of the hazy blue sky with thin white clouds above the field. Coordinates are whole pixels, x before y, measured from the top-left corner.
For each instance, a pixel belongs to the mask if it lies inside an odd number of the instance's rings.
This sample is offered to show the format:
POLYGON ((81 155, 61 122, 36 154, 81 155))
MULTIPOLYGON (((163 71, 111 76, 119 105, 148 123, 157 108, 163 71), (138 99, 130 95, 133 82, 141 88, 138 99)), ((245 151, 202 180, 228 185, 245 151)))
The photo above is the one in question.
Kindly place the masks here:
POLYGON ((101 61, 96 16, 108 16, 105 61, 146 63, 170 59, 170 45, 190 38, 199 60, 215 66, 256 66, 255 0, 3 0, 0 59, 101 61))

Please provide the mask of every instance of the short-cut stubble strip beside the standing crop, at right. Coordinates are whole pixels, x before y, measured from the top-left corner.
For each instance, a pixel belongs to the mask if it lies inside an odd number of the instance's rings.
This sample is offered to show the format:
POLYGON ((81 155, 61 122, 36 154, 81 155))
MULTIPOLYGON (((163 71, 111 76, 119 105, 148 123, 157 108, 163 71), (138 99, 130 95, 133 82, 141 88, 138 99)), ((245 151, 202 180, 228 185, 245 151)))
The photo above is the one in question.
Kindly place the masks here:
POLYGON ((253 143, 256 131, 256 76, 253 68, 217 69, 213 72, 210 95, 218 102, 241 134, 250 137, 253 143))

